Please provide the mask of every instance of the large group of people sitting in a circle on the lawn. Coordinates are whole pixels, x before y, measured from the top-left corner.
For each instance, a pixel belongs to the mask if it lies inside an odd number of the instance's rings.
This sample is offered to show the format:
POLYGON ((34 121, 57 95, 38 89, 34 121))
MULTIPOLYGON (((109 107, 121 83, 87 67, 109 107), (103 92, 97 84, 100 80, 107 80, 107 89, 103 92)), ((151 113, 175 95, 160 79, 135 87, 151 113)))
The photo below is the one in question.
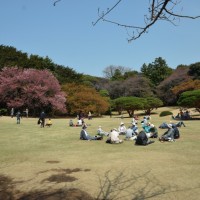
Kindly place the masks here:
MULTIPOLYGON (((149 122, 150 119, 150 116, 145 116, 143 118, 143 120, 141 121, 141 131, 139 131, 138 129, 138 120, 135 118, 132 119, 131 125, 128 128, 126 128, 123 122, 120 123, 118 129, 113 128, 109 132, 104 131, 102 127, 99 126, 97 129, 97 136, 90 136, 89 133, 86 131, 87 125, 84 124, 80 133, 80 139, 99 140, 106 136, 106 143, 120 144, 123 143, 124 140, 131 140, 135 141, 136 145, 148 145, 155 142, 150 138, 158 138, 158 129, 155 127, 154 124, 149 122), (121 139, 120 135, 125 136, 124 140, 121 139)), ((185 127, 185 124, 182 121, 178 123, 173 123, 171 121, 170 123, 162 123, 159 128, 167 130, 158 138, 159 141, 175 141, 175 139, 178 139, 180 137, 180 132, 178 128, 181 126, 185 127)))

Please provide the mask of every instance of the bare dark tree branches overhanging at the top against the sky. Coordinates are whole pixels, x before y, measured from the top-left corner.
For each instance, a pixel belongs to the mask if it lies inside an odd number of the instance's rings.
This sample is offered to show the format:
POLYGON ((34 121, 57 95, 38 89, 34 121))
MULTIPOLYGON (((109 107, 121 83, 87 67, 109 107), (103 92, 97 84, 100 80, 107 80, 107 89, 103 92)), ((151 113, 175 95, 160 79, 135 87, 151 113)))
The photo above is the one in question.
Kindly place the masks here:
MULTIPOLYGON (((54 6, 62 0, 54 0, 54 6)), ((144 16, 144 26, 136 26, 136 25, 128 25, 128 24, 122 24, 117 21, 113 21, 110 19, 107 19, 108 15, 122 2, 122 0, 116 0, 116 3, 111 7, 107 8, 105 11, 100 11, 100 8, 98 8, 98 18, 95 22, 92 22, 93 26, 97 25, 98 22, 103 21, 107 23, 111 23, 117 26, 121 26, 126 29, 127 33, 128 30, 133 30, 133 33, 129 35, 128 42, 131 42, 133 40, 136 40, 140 38, 144 33, 148 32, 148 29, 152 27, 156 22, 162 20, 167 21, 174 26, 176 26, 176 20, 180 20, 180 18, 188 18, 188 19, 198 19, 200 18, 200 15, 198 16, 190 16, 190 15, 182 15, 177 14, 174 12, 175 7, 177 7, 181 0, 149 0, 149 8, 148 8, 148 14, 144 16)))

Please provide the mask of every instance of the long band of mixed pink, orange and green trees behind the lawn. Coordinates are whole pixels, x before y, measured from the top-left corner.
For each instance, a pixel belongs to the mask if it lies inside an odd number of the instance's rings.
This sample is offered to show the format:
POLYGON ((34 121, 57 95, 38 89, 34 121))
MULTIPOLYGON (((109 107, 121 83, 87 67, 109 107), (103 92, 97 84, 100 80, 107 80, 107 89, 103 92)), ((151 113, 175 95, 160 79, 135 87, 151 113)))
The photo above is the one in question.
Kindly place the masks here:
POLYGON ((126 110, 132 116, 138 109, 149 114, 161 105, 177 105, 183 92, 200 89, 200 63, 179 65, 174 70, 159 57, 143 64, 141 72, 108 66, 103 71, 105 77, 100 78, 78 74, 47 57, 28 57, 13 47, 0 47, 3 108, 29 107, 32 114, 45 109, 48 113, 72 115, 80 111, 102 114, 115 109, 119 113, 126 110))

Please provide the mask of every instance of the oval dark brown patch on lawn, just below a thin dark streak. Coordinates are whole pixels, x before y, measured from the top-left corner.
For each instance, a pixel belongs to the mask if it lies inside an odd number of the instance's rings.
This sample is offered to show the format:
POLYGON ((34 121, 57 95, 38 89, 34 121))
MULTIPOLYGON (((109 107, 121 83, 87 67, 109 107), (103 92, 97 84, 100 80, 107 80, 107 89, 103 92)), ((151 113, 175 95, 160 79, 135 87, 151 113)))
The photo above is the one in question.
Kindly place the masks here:
POLYGON ((62 183, 62 182, 73 182, 73 181, 76 181, 76 180, 78 180, 78 179, 73 177, 73 176, 67 176, 65 174, 57 174, 57 175, 52 175, 47 179, 44 179, 42 181, 42 183, 44 181, 62 183))

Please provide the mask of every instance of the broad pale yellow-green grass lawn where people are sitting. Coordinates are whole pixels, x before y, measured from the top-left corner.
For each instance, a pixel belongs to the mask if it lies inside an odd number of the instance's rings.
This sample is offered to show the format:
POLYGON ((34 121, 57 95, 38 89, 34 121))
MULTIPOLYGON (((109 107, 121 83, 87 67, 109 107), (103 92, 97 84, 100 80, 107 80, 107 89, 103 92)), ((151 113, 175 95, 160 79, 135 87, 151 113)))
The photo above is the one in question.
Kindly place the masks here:
MULTIPOLYGON (((178 112, 176 108, 156 110, 151 119, 156 127, 171 120, 159 117, 162 110, 178 112)), ((121 121, 128 127, 131 118, 124 117, 86 119, 87 131, 95 135, 99 125, 110 131, 121 121)), ((142 116, 140 130, 141 120, 142 116)), ((22 199, 36 191, 76 188, 96 199, 199 199, 200 120, 185 121, 176 142, 153 139, 149 146, 135 146, 133 141, 107 144, 106 137, 80 141, 81 128, 69 127, 69 119, 52 122, 52 127, 40 128, 36 118, 16 124, 16 118, 0 117, 0 183, 7 181, 0 185, 0 194, 5 190, 7 195, 12 192, 13 199, 22 199)), ((164 132, 159 129, 159 135, 164 132)), ((0 200, 6 198, 0 196, 0 200)))

